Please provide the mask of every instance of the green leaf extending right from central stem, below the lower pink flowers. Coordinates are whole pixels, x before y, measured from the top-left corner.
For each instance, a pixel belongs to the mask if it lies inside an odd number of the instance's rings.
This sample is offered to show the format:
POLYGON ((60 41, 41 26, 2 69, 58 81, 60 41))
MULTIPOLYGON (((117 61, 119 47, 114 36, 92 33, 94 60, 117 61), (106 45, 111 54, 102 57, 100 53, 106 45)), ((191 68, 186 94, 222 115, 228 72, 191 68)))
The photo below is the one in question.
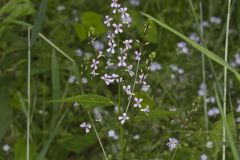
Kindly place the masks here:
POLYGON ((154 109, 154 110, 150 111, 148 115, 146 115, 143 112, 139 112, 137 114, 137 116, 135 117, 135 120, 141 121, 141 120, 151 120, 151 119, 158 119, 158 118, 168 118, 168 117, 174 117, 177 114, 178 114, 177 112, 154 109))

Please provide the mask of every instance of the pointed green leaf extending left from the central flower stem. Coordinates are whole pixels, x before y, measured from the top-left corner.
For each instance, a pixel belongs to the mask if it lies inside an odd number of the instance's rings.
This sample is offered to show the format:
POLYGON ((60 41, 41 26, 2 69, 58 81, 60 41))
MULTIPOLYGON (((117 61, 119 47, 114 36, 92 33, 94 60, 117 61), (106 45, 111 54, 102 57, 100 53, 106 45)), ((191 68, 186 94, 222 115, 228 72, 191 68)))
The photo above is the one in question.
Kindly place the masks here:
POLYGON ((114 105, 113 101, 108 97, 103 97, 96 94, 86 94, 86 95, 79 95, 69 98, 64 98, 61 100, 53 100, 51 102, 66 102, 72 103, 77 102, 83 107, 95 107, 95 106, 111 106, 114 105))

